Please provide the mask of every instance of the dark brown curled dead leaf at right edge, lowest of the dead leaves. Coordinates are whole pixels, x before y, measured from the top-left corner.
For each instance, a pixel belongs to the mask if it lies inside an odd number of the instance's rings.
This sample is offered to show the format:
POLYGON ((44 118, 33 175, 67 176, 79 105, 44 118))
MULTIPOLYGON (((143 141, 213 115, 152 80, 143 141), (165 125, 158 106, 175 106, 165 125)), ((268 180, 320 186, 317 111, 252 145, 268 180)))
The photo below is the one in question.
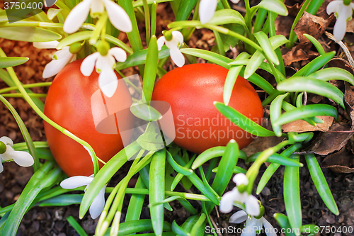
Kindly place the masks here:
POLYGON ((351 173, 354 172, 353 152, 347 147, 343 147, 339 152, 330 154, 321 163, 322 168, 331 168, 333 172, 351 173))

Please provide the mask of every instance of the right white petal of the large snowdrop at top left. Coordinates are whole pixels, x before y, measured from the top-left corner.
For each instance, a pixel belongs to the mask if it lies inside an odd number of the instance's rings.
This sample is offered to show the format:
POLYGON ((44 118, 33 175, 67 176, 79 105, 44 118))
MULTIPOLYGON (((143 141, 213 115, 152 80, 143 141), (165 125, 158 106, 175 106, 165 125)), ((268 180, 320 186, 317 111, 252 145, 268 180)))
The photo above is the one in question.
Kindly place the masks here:
POLYGON ((123 32, 132 31, 132 21, 121 6, 110 0, 102 0, 105 3, 105 11, 108 13, 110 23, 123 32))

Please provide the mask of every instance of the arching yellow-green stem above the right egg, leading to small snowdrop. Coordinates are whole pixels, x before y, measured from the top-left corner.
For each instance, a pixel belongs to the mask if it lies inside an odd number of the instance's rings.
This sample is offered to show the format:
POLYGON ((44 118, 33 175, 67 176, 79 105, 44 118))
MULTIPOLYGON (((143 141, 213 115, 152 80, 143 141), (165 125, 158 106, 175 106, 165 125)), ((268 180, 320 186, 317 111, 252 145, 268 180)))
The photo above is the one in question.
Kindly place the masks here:
POLYGON ((244 41, 244 43, 247 43, 247 44, 251 45, 252 47, 254 47, 255 50, 259 50, 260 52, 263 52, 262 47, 260 47, 256 43, 254 43, 249 38, 246 38, 244 35, 240 35, 239 33, 235 33, 234 31, 229 30, 228 28, 224 28, 222 26, 215 26, 210 23, 206 23, 206 24, 202 25, 200 23, 200 21, 178 21, 178 22, 169 23, 168 27, 171 28, 170 31, 181 30, 182 28, 187 28, 187 27, 209 28, 210 30, 216 30, 219 33, 223 33, 225 35, 230 35, 234 38, 238 38, 239 40, 244 41))

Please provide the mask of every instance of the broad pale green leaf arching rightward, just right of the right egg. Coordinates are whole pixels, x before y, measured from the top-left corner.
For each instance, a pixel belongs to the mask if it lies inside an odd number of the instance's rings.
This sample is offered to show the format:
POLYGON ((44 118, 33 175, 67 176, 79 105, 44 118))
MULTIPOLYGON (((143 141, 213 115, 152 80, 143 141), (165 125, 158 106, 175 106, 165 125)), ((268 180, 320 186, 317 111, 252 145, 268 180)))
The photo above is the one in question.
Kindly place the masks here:
POLYGON ((309 77, 292 77, 285 79, 278 84, 277 89, 279 91, 307 91, 308 93, 318 94, 326 96, 332 99, 341 107, 344 107, 344 94, 336 86, 319 79, 312 79, 309 77))

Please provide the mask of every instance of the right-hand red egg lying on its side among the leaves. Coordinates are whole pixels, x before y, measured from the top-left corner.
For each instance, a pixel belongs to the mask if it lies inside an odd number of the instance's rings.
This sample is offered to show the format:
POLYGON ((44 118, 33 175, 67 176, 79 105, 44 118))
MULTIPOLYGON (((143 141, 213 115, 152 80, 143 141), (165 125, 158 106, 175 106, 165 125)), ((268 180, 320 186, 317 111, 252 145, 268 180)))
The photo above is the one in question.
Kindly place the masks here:
MULTIPOLYGON (((164 132, 171 138, 176 130, 173 142, 180 147, 201 153, 210 147, 227 145, 232 138, 240 149, 252 142, 251 134, 230 123, 213 104, 223 102, 227 72, 216 64, 188 64, 171 70, 156 83, 152 100, 170 103, 175 127, 164 132)), ((261 100, 246 79, 236 79, 229 106, 261 123, 261 100)))

